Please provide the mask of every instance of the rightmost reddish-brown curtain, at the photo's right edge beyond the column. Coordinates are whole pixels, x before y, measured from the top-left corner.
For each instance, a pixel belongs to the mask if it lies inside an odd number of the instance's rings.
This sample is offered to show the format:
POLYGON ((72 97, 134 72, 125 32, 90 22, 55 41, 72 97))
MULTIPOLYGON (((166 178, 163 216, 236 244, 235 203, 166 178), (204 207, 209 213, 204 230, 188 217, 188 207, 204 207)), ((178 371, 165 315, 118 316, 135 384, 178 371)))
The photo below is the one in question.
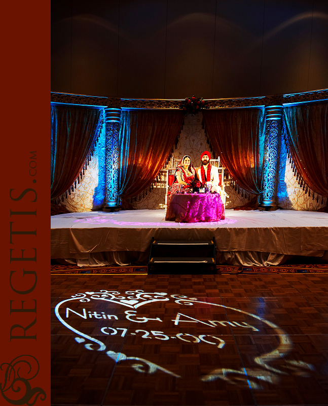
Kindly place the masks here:
POLYGON ((328 103, 284 108, 291 157, 305 183, 328 197, 328 103))

